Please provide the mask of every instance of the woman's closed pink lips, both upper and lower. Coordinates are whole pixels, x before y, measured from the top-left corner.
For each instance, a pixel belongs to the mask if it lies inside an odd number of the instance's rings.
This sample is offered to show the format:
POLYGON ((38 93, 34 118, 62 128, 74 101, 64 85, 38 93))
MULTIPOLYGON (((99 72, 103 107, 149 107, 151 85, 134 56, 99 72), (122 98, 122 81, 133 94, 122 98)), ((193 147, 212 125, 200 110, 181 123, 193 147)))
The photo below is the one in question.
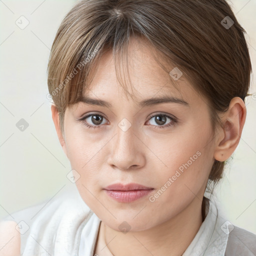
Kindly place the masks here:
POLYGON ((104 188, 106 194, 119 202, 131 202, 144 197, 154 188, 137 183, 121 184, 116 183, 104 188))

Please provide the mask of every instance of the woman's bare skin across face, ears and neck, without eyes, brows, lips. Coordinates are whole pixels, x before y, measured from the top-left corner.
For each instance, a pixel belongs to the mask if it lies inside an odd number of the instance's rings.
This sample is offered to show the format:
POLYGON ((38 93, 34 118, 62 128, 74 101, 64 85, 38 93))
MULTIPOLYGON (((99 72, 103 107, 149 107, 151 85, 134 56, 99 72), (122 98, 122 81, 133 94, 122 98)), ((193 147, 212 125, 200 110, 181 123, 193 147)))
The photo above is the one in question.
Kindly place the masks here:
POLYGON ((72 169, 80 174, 77 189, 102 220, 107 247, 118 256, 181 255, 185 251, 202 223, 201 201, 214 158, 224 161, 233 153, 246 116, 244 102, 234 97, 220 115, 225 125, 217 129, 213 139, 205 99, 183 76, 174 81, 175 89, 152 51, 142 40, 129 44, 133 97, 120 89, 112 54, 107 52, 99 61, 86 96, 105 100, 112 107, 83 102, 68 106, 63 132, 58 112, 54 105, 51 107, 60 144, 72 169), (160 95, 183 99, 189 106, 173 102, 144 107, 138 104, 160 95), (90 113, 103 116, 102 124, 95 124, 91 116, 78 120, 90 113), (149 117, 159 113, 174 115, 178 122, 166 127, 171 122, 167 117, 163 125, 149 117), (131 124, 126 131, 118 126, 123 118, 131 124), (85 122, 99 127, 88 128, 85 122), (197 151, 200 156, 151 202, 149 196, 197 151), (135 201, 117 202, 103 190, 117 182, 135 182, 154 189, 135 201), (123 221, 130 226, 126 233, 118 228, 123 221))

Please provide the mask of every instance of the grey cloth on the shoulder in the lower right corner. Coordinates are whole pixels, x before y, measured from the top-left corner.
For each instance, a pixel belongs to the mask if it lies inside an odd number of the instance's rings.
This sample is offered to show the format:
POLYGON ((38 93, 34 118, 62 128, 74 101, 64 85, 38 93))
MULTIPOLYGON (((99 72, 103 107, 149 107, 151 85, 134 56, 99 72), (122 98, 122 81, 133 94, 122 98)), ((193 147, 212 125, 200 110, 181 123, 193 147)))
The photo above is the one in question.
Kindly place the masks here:
POLYGON ((229 255, 256 255, 256 234, 238 226, 229 232, 225 256, 229 255))

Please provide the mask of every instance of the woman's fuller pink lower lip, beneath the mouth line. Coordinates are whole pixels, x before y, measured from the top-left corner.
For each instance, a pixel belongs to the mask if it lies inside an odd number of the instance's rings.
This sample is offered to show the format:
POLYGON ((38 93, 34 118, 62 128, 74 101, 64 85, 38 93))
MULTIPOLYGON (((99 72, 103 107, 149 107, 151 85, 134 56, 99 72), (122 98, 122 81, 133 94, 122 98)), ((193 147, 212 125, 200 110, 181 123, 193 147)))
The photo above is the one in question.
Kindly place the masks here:
MULTIPOLYGON (((105 189, 104 189, 105 190, 105 189)), ((129 190, 129 191, 120 191, 120 190, 105 190, 107 195, 119 202, 131 202, 135 201, 138 198, 141 198, 153 189, 140 189, 140 190, 129 190)))

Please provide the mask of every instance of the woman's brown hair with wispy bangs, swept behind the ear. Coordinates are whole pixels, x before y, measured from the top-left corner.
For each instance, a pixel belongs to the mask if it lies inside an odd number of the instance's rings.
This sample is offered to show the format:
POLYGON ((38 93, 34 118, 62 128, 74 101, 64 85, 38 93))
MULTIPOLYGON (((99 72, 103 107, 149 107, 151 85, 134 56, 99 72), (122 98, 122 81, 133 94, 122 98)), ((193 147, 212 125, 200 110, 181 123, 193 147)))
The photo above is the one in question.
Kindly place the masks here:
MULTIPOLYGON (((225 0, 78 1, 60 24, 48 63, 48 89, 61 127, 67 105, 79 101, 100 56, 110 49, 114 57, 124 55, 135 36, 182 70, 205 97, 215 131, 222 125, 218 112, 226 111, 235 96, 244 100, 249 89, 251 62, 244 33, 225 0)), ((214 161, 209 175, 214 183, 224 164, 214 161)))

